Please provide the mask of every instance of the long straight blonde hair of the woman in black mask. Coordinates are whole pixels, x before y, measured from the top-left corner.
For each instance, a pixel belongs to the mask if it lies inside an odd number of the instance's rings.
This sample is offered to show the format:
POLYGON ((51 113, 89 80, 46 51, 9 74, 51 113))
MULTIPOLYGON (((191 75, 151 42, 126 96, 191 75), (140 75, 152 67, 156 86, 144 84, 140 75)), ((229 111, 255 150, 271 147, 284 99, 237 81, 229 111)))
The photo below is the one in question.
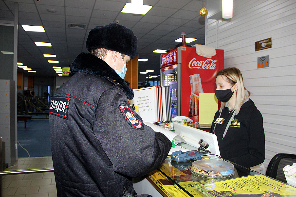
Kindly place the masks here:
MULTIPOLYGON (((236 110, 235 114, 237 115, 240 108, 242 107, 242 104, 251 95, 251 92, 244 87, 244 80, 239 69, 235 67, 229 67, 227 69, 219 71, 216 77, 220 75, 224 75, 226 77, 226 82, 230 83, 231 85, 237 83, 237 91, 234 92, 234 94, 237 94, 237 99, 234 106, 234 110, 236 110), (245 91, 248 93, 248 95, 245 94, 245 91)), ((224 106, 225 102, 221 102, 221 108, 219 109, 219 112, 221 112, 224 106)))

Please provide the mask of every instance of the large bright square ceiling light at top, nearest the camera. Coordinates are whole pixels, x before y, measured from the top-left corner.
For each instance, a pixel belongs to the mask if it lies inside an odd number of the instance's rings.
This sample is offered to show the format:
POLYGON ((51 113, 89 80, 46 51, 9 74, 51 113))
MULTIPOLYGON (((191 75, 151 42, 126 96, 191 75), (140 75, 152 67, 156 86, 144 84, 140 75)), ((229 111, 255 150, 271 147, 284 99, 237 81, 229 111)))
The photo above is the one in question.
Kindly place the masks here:
POLYGON ((146 14, 152 6, 143 5, 143 0, 131 0, 131 3, 126 3, 121 12, 131 14, 146 14))

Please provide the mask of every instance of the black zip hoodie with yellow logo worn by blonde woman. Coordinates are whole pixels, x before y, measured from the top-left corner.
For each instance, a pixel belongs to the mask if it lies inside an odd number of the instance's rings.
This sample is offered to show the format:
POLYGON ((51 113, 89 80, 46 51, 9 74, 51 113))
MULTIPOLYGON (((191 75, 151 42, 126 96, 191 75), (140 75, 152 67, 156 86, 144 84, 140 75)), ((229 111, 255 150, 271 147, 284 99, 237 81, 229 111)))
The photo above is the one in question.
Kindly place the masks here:
POLYGON ((216 124, 219 110, 212 122, 211 133, 215 133, 218 139, 221 157, 235 162, 244 167, 263 163, 265 159, 265 138, 263 129, 263 118, 260 111, 250 99, 242 105, 237 115, 234 115, 225 137, 222 139, 226 125, 233 111, 224 107, 220 118, 225 118, 223 123, 216 124))

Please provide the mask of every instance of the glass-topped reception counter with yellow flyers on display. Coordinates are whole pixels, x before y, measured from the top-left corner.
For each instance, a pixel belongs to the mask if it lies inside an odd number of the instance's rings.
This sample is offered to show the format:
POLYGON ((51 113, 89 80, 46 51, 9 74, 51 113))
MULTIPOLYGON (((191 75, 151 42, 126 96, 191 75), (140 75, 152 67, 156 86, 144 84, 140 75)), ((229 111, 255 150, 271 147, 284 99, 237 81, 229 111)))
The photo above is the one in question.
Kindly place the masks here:
MULTIPOLYGON (((221 158, 217 158, 217 159, 221 159, 221 158)), ((236 185, 247 184, 242 186, 244 191, 241 191, 239 195, 242 195, 242 193, 243 194, 244 193, 245 194, 261 194, 261 193, 263 194, 265 191, 274 192, 277 189, 276 187, 279 187, 278 185, 281 185, 281 187, 284 186, 285 188, 285 190, 283 190, 282 188, 280 189, 282 191, 282 194, 296 196, 296 188, 293 188, 292 186, 289 186, 287 184, 284 184, 282 182, 269 178, 253 170, 251 170, 252 175, 245 176, 242 178, 235 178, 237 177, 237 175, 232 175, 231 177, 227 177, 227 178, 207 178, 207 177, 202 177, 202 176, 197 176, 192 174, 190 171, 191 167, 192 167, 191 160, 188 160, 185 162, 175 162, 170 157, 167 157, 162 165, 160 165, 153 172, 149 173, 147 176, 133 179, 134 189, 138 194, 147 193, 147 194, 151 194, 153 197, 162 197, 162 196, 164 197, 167 197, 167 196, 196 197, 196 196, 209 196, 209 193, 201 192, 197 188, 202 190, 203 188, 209 188, 209 187, 203 187, 203 184, 213 185, 214 183, 216 183, 214 184, 214 186, 217 186, 217 187, 219 185, 225 185, 225 184, 230 186, 229 188, 227 188, 227 186, 224 187, 222 193, 218 192, 218 195, 215 194, 214 196, 211 196, 211 197, 218 197, 219 195, 225 197, 225 196, 234 196, 234 193, 239 191, 240 188, 239 189, 235 188, 236 185), (224 183, 221 181, 227 181, 227 183, 224 183), (248 185, 249 183, 250 185, 248 185), (231 184, 234 184, 234 186, 231 186, 231 184), (202 185, 202 186, 199 186, 199 185, 202 185)), ((213 191, 218 190, 218 188, 215 188, 215 187, 212 189, 213 191)))

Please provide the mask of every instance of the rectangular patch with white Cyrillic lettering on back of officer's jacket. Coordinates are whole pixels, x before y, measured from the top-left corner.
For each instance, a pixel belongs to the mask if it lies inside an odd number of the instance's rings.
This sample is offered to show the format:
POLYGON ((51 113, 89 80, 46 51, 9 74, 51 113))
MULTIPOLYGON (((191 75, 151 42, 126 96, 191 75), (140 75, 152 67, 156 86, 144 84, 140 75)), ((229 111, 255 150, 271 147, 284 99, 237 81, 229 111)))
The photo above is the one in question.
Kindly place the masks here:
POLYGON ((50 99, 49 114, 68 120, 70 100, 70 97, 52 96, 50 99))

